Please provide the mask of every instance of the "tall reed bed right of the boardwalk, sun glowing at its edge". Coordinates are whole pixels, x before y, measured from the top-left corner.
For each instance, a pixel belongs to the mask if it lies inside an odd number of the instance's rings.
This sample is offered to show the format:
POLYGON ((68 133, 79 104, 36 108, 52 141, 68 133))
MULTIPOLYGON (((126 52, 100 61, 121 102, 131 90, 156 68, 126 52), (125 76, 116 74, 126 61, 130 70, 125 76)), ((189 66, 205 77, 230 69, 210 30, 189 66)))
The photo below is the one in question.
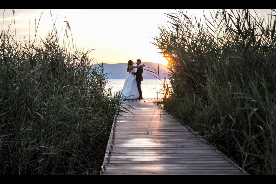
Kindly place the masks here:
POLYGON ((276 174, 275 13, 178 11, 154 38, 171 84, 162 106, 250 174, 276 174))

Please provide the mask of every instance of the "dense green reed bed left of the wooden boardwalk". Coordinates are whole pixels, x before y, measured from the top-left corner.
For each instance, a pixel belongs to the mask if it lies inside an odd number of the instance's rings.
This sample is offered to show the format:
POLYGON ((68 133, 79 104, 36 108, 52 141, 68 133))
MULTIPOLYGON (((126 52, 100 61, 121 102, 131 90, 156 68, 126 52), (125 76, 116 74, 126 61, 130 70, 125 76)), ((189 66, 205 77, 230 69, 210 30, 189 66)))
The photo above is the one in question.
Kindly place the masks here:
MULTIPOLYGON (((53 30, 19 41, 0 34, 0 174, 98 174, 120 96, 91 50, 53 30), (40 42, 40 44, 38 44, 40 42), (67 48, 66 43, 67 42, 67 48)), ((72 36, 72 35, 71 35, 72 36)))

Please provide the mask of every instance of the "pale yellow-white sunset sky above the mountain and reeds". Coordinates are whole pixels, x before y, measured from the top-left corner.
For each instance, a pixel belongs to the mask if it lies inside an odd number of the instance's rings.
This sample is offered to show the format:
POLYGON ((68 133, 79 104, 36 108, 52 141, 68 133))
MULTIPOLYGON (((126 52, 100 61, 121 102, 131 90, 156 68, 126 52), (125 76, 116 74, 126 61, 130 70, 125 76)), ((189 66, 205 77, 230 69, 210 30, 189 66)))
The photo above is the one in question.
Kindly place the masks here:
MULTIPOLYGON (((49 9, 15 9, 17 39, 34 39, 35 22, 39 22, 37 36, 44 38, 53 28, 49 9), (42 13, 42 15, 41 15, 42 13)), ((128 60, 166 64, 160 50, 150 42, 160 30, 158 25, 166 25, 166 14, 176 13, 175 9, 51 9, 53 21, 56 19, 57 32, 64 34, 68 20, 74 44, 79 49, 95 49, 90 53, 96 62, 108 64, 126 63, 128 60), (165 14, 166 13, 166 14, 165 14)), ((213 11, 213 10, 211 10, 213 11)), ((258 15, 266 16, 271 10, 257 9, 258 15)), ((186 10, 184 10, 186 12, 186 10)), ((208 10, 204 10, 208 17, 208 10)), ((0 11, 0 30, 9 26, 12 10, 0 11)), ((188 15, 203 18, 202 9, 188 9, 188 15)), ((10 25, 14 31, 14 23, 10 25)), ((70 32, 68 32, 70 35, 70 32)))

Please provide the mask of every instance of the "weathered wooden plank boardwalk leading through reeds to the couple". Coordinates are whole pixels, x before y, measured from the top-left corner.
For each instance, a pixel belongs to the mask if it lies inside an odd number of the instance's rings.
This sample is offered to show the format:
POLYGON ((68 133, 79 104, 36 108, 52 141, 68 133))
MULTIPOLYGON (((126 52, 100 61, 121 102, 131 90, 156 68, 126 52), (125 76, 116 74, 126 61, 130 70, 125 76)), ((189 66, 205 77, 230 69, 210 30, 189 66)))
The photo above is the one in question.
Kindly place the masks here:
POLYGON ((101 174, 243 174, 156 104, 121 106, 135 115, 120 112, 114 121, 101 174))

